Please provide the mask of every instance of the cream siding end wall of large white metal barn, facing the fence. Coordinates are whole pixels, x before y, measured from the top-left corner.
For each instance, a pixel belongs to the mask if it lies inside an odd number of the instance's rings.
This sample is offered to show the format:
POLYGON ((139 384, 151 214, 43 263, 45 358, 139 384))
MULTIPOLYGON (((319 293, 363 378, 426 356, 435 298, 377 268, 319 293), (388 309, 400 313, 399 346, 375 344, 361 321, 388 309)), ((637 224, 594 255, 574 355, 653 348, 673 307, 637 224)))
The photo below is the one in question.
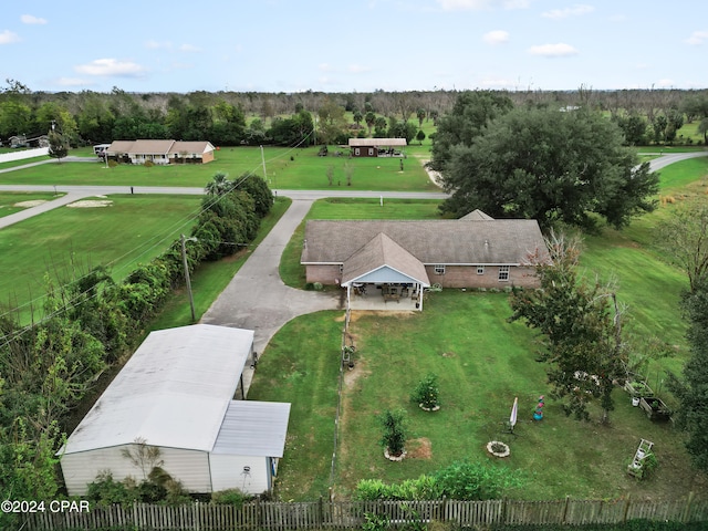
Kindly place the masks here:
MULTIPOLYGON (((86 486, 93 482, 102 471, 111 471, 113 479, 121 481, 131 476, 143 479, 143 471, 123 457, 121 450, 135 447, 123 445, 113 448, 100 448, 79 454, 65 454, 61 457, 64 482, 70 496, 85 496, 86 486)), ((190 492, 210 492, 209 461, 207 452, 177 448, 160 448, 163 468, 183 482, 190 492)), ((147 471, 149 472, 149 470, 147 471)))

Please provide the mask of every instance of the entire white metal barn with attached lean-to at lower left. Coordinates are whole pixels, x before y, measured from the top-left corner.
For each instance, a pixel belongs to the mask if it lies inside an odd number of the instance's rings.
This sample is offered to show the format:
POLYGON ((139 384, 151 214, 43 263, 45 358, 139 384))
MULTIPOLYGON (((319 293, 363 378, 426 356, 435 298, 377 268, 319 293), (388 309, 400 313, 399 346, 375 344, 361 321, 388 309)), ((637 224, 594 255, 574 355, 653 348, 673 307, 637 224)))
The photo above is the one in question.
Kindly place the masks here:
MULTIPOLYGON (((290 404, 233 399, 253 332, 207 324, 152 332, 58 455, 70 496, 107 470, 140 481, 140 444, 190 492, 270 491, 283 456, 290 404)), ((239 385, 240 384, 240 385, 239 385)))

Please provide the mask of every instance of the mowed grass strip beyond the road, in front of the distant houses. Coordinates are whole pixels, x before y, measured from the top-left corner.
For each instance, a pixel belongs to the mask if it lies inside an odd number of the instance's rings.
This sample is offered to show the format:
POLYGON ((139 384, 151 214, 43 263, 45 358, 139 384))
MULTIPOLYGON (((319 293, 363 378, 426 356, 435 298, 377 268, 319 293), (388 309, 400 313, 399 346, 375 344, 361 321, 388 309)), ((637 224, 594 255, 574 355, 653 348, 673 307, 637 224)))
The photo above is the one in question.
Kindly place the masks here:
MULTIPOLYGON (((348 158, 348 149, 330 149, 331 155, 319 157, 317 149, 267 147, 263 150, 268 184, 274 189, 346 189, 381 191, 439 191, 430 183, 417 158, 348 158), (353 168, 347 186, 345 164, 353 168), (333 185, 327 179, 332 167, 333 185)), ((82 152, 83 155, 90 156, 82 152)), ((0 165, 0 168, 4 165, 0 165)), ((115 185, 115 186, 189 186, 202 187, 211 177, 223 171, 235 179, 251 171, 263 176, 261 150, 258 147, 225 147, 216 152, 216 160, 205 165, 169 165, 145 167, 121 164, 106 168, 100 162, 42 164, 0 174, 0 184, 23 185, 115 185)))

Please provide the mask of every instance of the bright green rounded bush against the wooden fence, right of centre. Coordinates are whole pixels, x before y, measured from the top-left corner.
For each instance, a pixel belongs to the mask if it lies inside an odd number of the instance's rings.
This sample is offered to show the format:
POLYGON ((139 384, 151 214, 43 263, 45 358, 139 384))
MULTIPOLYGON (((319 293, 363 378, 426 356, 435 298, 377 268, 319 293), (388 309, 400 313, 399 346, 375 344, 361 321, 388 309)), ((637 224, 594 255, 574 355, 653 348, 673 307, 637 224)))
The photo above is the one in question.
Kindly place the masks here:
POLYGON ((433 475, 440 497, 450 500, 494 500, 510 487, 520 487, 518 472, 467 460, 456 461, 433 475))

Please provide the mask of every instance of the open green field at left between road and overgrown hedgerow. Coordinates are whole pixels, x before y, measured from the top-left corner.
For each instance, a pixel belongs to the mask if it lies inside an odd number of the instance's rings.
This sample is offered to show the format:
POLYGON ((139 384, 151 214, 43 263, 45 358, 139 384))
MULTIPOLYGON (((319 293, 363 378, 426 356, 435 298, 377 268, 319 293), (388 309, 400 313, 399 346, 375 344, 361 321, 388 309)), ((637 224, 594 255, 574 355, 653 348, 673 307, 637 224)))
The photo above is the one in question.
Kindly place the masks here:
POLYGON ((188 233, 199 212, 198 196, 111 196, 110 207, 45 212, 0 230, 0 303, 35 316, 45 293, 45 275, 65 282, 105 266, 121 280, 137 263, 163 252, 188 233))

